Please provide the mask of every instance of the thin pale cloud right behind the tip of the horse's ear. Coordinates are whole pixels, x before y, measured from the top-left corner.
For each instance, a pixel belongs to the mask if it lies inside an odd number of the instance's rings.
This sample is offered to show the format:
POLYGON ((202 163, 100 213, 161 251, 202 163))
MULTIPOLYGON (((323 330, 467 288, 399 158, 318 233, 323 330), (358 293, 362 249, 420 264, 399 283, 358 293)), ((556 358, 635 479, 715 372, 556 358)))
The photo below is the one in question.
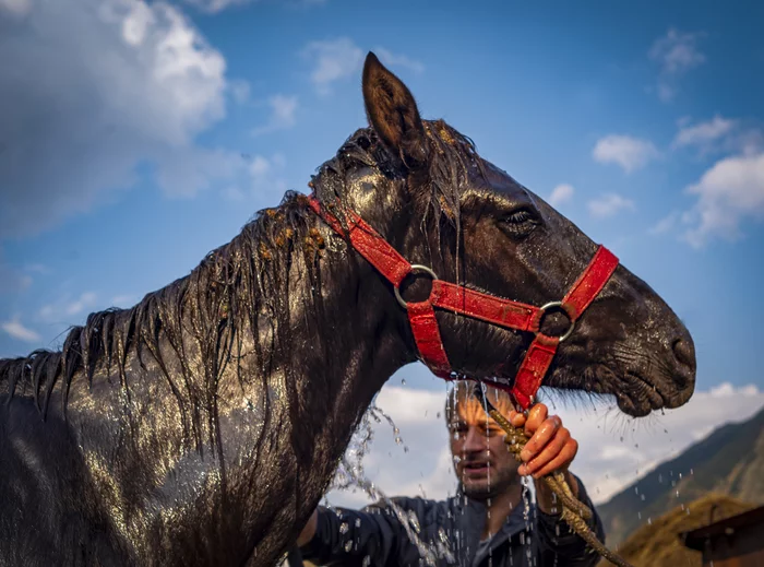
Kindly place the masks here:
MULTIPOLYGON (((380 60, 391 68, 407 68, 421 73, 425 66, 404 55, 393 54, 383 47, 375 48, 380 60)), ((325 42, 311 42, 301 52, 313 63, 310 80, 317 92, 327 95, 332 84, 342 79, 355 76, 361 70, 366 54, 349 37, 338 37, 325 42)))

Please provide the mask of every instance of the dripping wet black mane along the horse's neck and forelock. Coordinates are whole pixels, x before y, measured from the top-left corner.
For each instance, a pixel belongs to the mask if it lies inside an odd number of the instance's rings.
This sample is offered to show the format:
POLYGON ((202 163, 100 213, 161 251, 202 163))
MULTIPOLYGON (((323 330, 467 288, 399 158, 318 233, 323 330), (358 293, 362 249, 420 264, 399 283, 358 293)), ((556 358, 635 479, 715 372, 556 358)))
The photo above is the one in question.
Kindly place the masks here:
MULTIPOLYGON (((468 169, 481 168, 480 158, 473 142, 442 120, 426 121, 425 128, 433 156, 427 180, 413 188, 415 198, 426 200, 428 214, 446 220, 458 231, 459 188, 468 169)), ((320 201, 339 203, 336 212, 341 217, 346 203, 346 175, 359 164, 403 179, 399 157, 381 144, 374 131, 356 131, 310 184, 320 201)), ((308 285, 300 290, 312 293, 312 302, 320 304, 318 259, 324 243, 319 231, 311 228, 313 225, 314 215, 306 197, 287 192, 279 206, 258 212, 238 236, 210 252, 189 275, 147 294, 130 309, 94 312, 84 326, 72 327, 60 352, 37 350, 28 356, 0 359, 0 393, 7 393, 8 403, 14 395, 33 397, 45 417, 51 393, 60 383, 61 411, 65 415, 75 375, 83 373, 92 387, 99 373, 108 376, 116 369, 129 397, 128 356, 134 353, 143 369, 145 357, 151 356, 181 409, 187 406, 193 414, 184 416, 184 425, 199 441, 199 409, 216 415, 217 381, 229 364, 237 364, 231 353, 237 352, 244 332, 256 335, 263 324, 271 326, 272 344, 261 344, 256 338, 253 341, 262 380, 270 374, 270 353, 289 352, 289 297, 296 287, 290 274, 295 265, 305 267, 300 279, 306 279, 308 285), (183 341, 183 333, 191 333, 205 362, 201 388, 194 386, 198 379, 186 362, 188 340, 183 341), (168 370, 160 346, 163 338, 179 362, 181 376, 168 370)), ((237 370, 237 375, 241 380, 241 373, 237 370)))

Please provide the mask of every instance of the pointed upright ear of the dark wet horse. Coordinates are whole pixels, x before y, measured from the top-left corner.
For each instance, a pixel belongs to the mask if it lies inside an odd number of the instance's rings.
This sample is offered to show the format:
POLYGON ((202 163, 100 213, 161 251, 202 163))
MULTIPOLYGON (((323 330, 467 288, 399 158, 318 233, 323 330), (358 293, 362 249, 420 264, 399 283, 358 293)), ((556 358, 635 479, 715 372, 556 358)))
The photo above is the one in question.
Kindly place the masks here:
POLYGON ((427 163, 427 137, 417 103, 371 51, 363 64, 363 104, 371 127, 406 167, 416 169, 427 163))

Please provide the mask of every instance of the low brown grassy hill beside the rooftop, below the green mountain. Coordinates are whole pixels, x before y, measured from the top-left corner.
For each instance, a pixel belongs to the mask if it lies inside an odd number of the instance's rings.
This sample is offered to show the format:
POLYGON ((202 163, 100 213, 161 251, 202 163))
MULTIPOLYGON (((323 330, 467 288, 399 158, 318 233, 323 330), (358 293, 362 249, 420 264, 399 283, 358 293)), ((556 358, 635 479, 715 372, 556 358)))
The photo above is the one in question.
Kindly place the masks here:
MULTIPOLYGON (((680 567, 701 565, 701 552, 688 548, 679 534, 714 521, 737 516, 754 506, 724 494, 708 494, 689 505, 680 505, 638 528, 618 553, 635 567, 680 567)), ((601 560, 599 567, 609 567, 601 560)))

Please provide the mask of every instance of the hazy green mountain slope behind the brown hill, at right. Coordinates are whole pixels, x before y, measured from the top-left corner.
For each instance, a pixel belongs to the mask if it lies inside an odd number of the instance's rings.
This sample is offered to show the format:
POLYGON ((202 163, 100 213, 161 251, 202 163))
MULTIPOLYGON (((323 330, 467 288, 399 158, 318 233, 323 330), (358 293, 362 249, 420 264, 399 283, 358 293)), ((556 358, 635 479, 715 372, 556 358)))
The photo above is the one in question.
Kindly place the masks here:
POLYGON ((608 546, 709 493, 764 504, 764 409, 745 422, 717 428, 597 506, 608 546))

